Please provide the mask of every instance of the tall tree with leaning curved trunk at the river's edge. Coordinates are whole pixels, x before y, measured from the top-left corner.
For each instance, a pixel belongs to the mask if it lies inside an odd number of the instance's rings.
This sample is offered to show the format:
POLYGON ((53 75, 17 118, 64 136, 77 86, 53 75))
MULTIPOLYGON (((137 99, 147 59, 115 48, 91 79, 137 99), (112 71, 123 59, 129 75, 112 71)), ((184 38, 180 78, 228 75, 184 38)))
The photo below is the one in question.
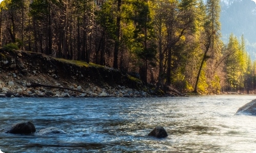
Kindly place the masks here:
MULTIPOLYGON (((221 47, 222 42, 220 40, 221 37, 221 24, 219 21, 220 18, 220 0, 208 0, 206 3, 206 16, 203 19, 204 22, 204 30, 201 34, 202 44, 204 46, 204 54, 202 57, 202 61, 198 70, 197 79, 194 87, 194 92, 198 92, 198 83, 200 79, 200 74, 204 65, 204 62, 207 60, 207 73, 206 77, 209 78, 210 82, 215 77, 215 66, 218 64, 218 60, 221 56, 221 47)), ((218 79, 217 79, 218 80, 218 79)), ((210 85, 211 83, 208 82, 210 85)))

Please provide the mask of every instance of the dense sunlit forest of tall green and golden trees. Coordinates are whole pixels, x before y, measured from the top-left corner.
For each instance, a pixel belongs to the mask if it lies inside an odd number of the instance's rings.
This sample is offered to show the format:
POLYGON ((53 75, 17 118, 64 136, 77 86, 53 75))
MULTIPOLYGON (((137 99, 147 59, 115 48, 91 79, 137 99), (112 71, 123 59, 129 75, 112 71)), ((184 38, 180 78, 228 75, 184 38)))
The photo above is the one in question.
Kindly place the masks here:
POLYGON ((5 0, 0 45, 110 66, 166 91, 256 89, 243 36, 221 40, 220 0, 5 0))

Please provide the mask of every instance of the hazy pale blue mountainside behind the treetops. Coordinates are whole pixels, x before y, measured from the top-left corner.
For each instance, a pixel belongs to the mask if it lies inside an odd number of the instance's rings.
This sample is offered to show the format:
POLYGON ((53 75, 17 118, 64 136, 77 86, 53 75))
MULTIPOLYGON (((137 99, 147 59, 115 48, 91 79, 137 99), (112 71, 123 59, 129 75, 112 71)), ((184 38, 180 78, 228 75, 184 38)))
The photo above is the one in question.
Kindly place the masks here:
POLYGON ((256 4, 251 0, 221 1, 221 32, 224 43, 231 33, 240 38, 244 35, 246 50, 256 60, 256 4))

